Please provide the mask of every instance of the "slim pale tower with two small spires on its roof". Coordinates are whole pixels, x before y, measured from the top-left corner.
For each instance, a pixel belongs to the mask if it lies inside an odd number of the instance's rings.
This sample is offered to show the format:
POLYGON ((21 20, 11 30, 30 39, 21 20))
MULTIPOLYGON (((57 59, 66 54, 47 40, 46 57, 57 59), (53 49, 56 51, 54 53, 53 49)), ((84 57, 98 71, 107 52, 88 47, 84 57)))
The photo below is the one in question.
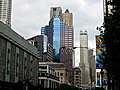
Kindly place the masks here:
POLYGON ((87 31, 80 31, 80 69, 81 69, 81 85, 88 87, 90 82, 90 69, 88 62, 88 35, 87 31))

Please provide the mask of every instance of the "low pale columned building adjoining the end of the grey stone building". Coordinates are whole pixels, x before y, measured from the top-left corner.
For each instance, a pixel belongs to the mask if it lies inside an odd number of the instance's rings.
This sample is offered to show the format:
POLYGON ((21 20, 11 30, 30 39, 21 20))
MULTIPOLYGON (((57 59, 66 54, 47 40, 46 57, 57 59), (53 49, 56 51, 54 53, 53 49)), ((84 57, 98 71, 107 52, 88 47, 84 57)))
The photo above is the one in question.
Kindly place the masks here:
POLYGON ((59 77, 55 75, 55 68, 47 62, 39 63, 39 84, 43 88, 52 90, 59 86, 59 77))

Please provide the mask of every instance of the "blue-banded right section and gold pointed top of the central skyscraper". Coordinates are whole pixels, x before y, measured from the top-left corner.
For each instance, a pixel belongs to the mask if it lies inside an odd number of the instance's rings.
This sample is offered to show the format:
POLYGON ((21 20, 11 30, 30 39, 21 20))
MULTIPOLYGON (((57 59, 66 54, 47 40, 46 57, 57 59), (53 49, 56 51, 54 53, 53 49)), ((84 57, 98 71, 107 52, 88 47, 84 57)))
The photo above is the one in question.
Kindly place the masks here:
POLYGON ((74 31, 73 31, 73 18, 72 13, 69 13, 69 10, 62 14, 63 26, 61 30, 61 47, 72 48, 74 41, 74 31))

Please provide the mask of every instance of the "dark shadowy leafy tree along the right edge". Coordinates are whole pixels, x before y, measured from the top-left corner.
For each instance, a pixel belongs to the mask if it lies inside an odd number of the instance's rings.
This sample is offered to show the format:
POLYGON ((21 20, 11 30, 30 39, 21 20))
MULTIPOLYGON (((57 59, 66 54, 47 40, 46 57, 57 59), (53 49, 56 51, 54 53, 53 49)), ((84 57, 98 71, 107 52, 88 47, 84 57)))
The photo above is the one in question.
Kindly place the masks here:
POLYGON ((105 58, 103 59, 104 66, 108 72, 108 83, 110 81, 113 90, 118 90, 120 87, 120 0, 113 0, 109 2, 113 5, 112 13, 105 17, 105 28, 103 33, 106 51, 103 52, 105 58))

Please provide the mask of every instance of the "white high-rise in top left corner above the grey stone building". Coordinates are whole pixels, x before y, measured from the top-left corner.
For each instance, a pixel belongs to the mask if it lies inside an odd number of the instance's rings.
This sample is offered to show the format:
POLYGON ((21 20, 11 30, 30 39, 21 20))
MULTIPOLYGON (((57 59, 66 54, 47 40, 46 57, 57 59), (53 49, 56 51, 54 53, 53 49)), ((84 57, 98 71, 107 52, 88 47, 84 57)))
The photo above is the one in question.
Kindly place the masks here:
POLYGON ((0 0, 0 21, 11 27, 12 0, 0 0))

